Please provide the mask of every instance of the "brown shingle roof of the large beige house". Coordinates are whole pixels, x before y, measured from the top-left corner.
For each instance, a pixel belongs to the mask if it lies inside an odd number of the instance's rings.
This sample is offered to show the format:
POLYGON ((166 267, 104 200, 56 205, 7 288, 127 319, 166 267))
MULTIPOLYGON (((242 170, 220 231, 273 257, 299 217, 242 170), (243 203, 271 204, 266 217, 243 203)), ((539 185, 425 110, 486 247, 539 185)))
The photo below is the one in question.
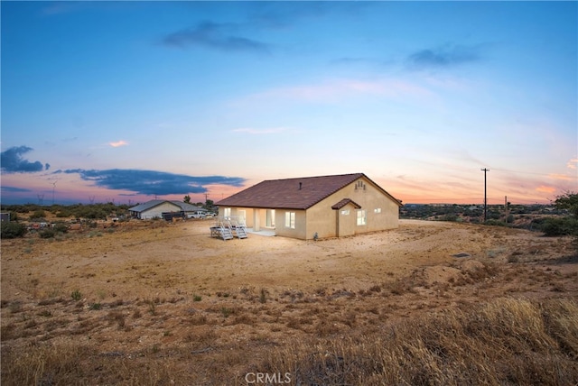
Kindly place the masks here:
MULTIPOLYGON (((220 207, 307 209, 361 177, 367 179, 363 173, 298 179, 269 179, 224 198, 216 205, 220 207)), ((383 191, 388 197, 391 197, 385 190, 383 191)), ((391 199, 397 202, 396 198, 391 197, 391 199)))

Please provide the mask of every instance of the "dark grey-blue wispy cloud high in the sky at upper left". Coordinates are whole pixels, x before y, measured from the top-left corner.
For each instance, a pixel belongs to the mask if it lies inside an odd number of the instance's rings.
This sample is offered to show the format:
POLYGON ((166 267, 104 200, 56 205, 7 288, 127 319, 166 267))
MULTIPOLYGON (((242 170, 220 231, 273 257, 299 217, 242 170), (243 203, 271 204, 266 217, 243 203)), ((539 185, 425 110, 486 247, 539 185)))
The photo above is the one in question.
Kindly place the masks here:
POLYGON ((234 23, 202 22, 198 25, 163 38, 169 47, 206 47, 220 51, 248 51, 269 53, 268 44, 235 34, 238 26, 234 23))

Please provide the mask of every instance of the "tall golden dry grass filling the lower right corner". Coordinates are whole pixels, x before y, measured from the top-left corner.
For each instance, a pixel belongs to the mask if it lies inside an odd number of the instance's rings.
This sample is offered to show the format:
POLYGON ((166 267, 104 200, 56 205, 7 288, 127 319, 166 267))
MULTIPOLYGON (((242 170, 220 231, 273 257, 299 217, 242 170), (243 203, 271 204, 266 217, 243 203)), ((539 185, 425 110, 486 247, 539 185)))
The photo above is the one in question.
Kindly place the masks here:
POLYGON ((573 384, 578 306, 497 299, 390 326, 381 336, 296 343, 260 372, 291 372, 294 384, 573 384))

